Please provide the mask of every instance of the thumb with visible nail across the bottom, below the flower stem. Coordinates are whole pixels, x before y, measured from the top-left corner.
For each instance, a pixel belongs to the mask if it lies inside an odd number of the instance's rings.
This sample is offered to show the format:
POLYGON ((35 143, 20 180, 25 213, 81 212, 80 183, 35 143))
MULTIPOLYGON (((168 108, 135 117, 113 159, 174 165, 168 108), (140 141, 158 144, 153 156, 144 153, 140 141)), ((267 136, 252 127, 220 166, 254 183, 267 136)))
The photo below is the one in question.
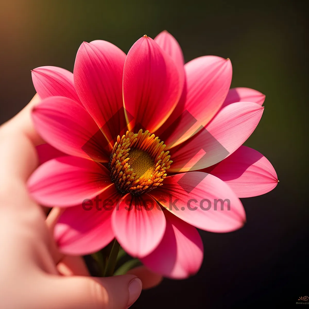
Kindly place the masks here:
POLYGON ((126 309, 138 299, 142 291, 142 281, 134 275, 105 278, 52 277, 49 281, 44 305, 48 304, 50 309, 126 309))

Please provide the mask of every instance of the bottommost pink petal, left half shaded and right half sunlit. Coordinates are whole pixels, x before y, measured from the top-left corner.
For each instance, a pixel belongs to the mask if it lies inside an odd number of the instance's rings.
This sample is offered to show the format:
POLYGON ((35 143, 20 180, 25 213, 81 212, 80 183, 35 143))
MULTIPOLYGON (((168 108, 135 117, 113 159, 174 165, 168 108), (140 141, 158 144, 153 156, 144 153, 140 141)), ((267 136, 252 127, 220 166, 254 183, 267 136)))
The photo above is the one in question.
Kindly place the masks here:
POLYGON ((203 261, 203 243, 197 229, 164 211, 166 230, 159 246, 142 263, 155 273, 185 279, 198 272, 203 261))

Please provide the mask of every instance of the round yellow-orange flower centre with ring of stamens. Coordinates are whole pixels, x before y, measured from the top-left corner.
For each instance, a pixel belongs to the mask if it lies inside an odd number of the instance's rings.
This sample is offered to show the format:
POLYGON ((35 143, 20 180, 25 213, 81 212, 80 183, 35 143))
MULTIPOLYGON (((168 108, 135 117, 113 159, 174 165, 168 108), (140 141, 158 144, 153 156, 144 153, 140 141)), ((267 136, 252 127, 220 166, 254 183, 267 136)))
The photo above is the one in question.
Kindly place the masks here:
POLYGON ((162 185, 173 162, 164 148, 154 134, 142 129, 138 133, 127 131, 122 138, 118 135, 109 162, 117 190, 139 195, 162 185))

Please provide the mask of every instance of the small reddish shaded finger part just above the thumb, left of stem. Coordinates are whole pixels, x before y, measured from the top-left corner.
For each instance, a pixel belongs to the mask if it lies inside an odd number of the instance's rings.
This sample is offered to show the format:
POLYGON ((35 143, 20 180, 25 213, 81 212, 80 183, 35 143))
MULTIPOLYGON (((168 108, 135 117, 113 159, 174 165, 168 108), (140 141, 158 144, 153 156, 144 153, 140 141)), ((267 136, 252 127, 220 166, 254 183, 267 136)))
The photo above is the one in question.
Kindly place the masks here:
POLYGON ((58 263, 57 269, 62 276, 90 276, 81 256, 64 256, 58 263))

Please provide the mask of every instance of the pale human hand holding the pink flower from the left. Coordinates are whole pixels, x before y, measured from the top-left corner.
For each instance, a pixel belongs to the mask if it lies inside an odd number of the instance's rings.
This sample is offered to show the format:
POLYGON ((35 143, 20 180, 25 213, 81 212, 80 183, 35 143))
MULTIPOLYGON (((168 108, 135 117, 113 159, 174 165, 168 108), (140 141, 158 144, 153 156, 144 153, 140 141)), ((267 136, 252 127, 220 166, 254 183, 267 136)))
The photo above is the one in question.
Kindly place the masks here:
POLYGON ((128 308, 162 277, 143 266, 130 274, 90 277, 83 259, 63 256, 50 230, 60 210, 46 219, 28 195, 26 181, 38 166, 44 141, 30 117, 32 101, 0 127, 0 299, 3 308, 128 308), (140 277, 142 281, 136 276, 140 277))

